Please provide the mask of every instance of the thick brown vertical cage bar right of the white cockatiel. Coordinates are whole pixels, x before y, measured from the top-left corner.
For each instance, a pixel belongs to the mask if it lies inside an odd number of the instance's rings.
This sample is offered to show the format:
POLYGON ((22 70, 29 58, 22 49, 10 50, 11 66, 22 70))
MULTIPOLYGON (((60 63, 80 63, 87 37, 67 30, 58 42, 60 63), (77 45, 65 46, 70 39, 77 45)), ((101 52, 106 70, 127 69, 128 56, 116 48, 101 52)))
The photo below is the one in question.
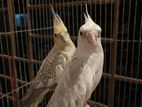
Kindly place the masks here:
POLYGON ((113 43, 110 50, 110 74, 111 77, 109 79, 109 90, 108 90, 108 105, 109 107, 113 107, 114 100, 114 88, 115 88, 115 73, 116 73, 116 62, 117 62, 117 35, 118 35, 118 21, 119 21, 119 0, 115 0, 114 3, 114 13, 115 17, 113 20, 113 43))

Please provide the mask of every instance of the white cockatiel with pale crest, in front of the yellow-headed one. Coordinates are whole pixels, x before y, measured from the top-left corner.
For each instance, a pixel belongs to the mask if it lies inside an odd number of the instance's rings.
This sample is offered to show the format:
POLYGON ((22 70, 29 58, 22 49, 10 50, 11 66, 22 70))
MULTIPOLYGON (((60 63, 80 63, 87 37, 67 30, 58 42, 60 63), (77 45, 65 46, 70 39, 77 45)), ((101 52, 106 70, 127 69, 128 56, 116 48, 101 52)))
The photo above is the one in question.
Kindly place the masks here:
POLYGON ((84 16, 76 52, 47 107, 89 107, 87 100, 101 79, 104 62, 101 28, 89 16, 87 5, 84 16))

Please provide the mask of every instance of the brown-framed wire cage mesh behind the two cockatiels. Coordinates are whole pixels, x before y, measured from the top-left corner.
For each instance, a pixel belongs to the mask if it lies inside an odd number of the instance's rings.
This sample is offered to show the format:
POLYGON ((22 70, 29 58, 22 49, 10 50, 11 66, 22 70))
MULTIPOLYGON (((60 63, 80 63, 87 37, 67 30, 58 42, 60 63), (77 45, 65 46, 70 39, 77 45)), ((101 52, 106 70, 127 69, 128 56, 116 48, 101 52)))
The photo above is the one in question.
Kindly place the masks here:
MULTIPOLYGON (((104 71, 90 105, 142 107, 142 1, 51 1, 75 44, 85 3, 102 28, 104 71)), ((0 107, 19 106, 53 46, 52 34, 49 0, 0 1, 0 107)))

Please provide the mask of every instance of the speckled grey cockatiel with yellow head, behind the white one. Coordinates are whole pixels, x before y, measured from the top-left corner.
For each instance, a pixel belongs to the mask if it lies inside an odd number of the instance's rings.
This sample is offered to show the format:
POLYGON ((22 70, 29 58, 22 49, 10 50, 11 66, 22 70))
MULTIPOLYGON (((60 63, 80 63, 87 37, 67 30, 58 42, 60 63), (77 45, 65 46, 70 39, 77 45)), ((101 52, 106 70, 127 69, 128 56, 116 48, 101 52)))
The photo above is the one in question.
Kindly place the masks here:
POLYGON ((66 26, 51 6, 53 14, 54 46, 43 60, 29 90, 21 100, 21 107, 37 107, 45 94, 53 87, 63 73, 64 67, 71 60, 76 47, 66 26))

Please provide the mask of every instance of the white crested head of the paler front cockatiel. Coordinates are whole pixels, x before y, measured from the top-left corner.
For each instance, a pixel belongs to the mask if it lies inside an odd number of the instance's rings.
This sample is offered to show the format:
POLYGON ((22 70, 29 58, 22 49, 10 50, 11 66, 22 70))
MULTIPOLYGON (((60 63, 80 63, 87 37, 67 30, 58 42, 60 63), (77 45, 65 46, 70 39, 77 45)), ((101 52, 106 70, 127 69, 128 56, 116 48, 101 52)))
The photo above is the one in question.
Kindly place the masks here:
POLYGON ((85 24, 80 27, 79 40, 81 40, 83 44, 97 46, 101 43, 101 28, 91 19, 90 15, 88 14, 87 5, 85 5, 85 7, 85 24))

